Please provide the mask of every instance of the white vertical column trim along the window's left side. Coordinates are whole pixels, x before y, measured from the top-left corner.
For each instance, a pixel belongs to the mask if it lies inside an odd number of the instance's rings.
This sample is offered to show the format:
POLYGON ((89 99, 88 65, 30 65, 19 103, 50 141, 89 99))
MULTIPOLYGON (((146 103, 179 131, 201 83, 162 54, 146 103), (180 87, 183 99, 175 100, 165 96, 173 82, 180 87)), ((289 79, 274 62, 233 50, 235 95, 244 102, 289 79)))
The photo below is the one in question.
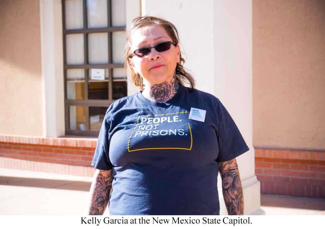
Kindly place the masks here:
POLYGON ((40 0, 43 136, 59 137, 64 129, 64 82, 61 0, 40 0))

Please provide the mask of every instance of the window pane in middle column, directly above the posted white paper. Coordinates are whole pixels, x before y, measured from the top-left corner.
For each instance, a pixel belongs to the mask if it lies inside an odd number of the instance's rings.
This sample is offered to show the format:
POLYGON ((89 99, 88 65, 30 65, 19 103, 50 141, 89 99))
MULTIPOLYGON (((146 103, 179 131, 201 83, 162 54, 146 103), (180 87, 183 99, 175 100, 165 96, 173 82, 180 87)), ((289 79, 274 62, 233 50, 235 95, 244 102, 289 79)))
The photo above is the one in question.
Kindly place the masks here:
POLYGON ((108 64, 108 33, 88 34, 89 64, 108 64))

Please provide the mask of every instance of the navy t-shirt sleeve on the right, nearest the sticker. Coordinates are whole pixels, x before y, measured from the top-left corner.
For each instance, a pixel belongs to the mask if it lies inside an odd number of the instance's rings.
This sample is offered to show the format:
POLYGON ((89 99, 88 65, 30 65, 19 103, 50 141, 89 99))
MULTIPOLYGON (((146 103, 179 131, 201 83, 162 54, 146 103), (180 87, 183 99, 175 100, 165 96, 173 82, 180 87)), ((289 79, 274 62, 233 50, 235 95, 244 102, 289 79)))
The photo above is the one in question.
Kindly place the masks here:
POLYGON ((219 146, 219 155, 215 161, 226 162, 249 151, 237 125, 219 99, 215 105, 215 112, 218 122, 216 134, 219 146))

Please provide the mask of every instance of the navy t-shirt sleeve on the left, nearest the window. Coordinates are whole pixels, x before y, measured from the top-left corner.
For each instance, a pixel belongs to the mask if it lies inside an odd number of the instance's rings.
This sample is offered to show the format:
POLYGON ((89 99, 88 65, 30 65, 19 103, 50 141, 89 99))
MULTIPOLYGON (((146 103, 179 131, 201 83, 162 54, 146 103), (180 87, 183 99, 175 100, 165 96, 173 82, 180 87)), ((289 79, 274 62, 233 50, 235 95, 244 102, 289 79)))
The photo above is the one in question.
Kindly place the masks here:
POLYGON ((113 168, 109 157, 109 130, 110 130, 110 119, 108 117, 108 111, 106 111, 103 123, 100 127, 96 150, 94 153, 91 165, 96 169, 110 170, 113 168))

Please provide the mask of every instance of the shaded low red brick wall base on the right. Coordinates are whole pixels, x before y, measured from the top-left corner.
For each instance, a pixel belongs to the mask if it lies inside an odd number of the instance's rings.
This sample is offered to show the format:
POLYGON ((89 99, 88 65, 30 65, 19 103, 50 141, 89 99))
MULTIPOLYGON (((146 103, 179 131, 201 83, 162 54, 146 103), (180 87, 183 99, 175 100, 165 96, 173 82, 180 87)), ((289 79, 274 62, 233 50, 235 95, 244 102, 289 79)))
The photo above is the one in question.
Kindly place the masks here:
POLYGON ((325 198, 325 152, 255 149, 261 193, 325 198))

